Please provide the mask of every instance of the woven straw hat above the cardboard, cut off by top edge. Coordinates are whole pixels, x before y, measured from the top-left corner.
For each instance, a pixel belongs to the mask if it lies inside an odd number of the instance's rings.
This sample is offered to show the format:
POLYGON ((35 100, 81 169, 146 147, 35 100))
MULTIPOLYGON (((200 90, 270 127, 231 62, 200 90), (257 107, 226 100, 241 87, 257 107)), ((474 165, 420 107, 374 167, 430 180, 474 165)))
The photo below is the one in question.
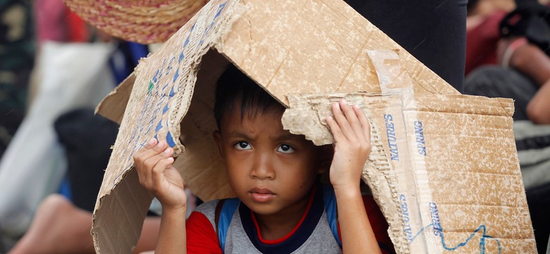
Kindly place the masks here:
POLYGON ((115 37, 165 42, 208 0, 65 0, 71 11, 115 37))

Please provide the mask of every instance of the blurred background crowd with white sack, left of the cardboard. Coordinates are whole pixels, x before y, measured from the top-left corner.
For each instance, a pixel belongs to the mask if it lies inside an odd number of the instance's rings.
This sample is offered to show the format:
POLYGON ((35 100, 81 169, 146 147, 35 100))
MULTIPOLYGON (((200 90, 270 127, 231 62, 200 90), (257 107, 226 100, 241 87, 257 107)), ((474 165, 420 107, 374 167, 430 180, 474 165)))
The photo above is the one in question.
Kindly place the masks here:
POLYGON ((0 1, 0 253, 59 253, 44 246, 76 238, 93 252, 91 212, 118 132, 94 107, 148 53, 62 0, 0 1))

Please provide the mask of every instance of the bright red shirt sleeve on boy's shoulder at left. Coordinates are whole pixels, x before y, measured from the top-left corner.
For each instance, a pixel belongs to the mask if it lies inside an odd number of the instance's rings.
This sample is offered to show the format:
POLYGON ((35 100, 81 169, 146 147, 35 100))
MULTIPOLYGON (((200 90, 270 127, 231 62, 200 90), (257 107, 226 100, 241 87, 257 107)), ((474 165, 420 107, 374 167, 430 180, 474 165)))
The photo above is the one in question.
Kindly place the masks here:
POLYGON ((204 214, 192 212, 185 227, 188 253, 222 253, 216 231, 204 214))

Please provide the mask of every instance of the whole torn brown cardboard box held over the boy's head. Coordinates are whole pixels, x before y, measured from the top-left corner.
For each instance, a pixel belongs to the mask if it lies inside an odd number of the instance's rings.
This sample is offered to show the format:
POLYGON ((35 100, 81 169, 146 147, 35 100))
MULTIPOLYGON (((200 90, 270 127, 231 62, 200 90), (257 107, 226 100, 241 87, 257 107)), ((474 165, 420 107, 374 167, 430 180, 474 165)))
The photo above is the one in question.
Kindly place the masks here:
POLYGON ((174 148, 202 200, 233 195, 211 138, 228 63, 288 107, 285 128, 318 144, 331 143, 321 105, 362 106, 373 133, 363 179, 398 253, 536 253, 512 102, 460 95, 341 0, 213 0, 141 59, 97 107, 121 123, 94 210, 97 253, 138 241, 152 195, 132 155, 151 137, 174 148))

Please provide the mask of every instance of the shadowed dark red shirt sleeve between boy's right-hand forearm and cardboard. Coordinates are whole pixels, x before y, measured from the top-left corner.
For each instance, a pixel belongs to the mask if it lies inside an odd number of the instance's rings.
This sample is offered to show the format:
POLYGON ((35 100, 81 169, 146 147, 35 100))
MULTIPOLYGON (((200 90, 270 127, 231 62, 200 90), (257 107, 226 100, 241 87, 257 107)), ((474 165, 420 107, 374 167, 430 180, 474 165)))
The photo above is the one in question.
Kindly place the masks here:
POLYGON ((363 203, 365 204, 365 210, 367 210, 372 231, 374 231, 374 236, 377 238, 382 253, 396 253, 388 235, 388 222, 386 222, 386 218, 378 207, 377 202, 374 201, 372 195, 363 195, 363 203))

